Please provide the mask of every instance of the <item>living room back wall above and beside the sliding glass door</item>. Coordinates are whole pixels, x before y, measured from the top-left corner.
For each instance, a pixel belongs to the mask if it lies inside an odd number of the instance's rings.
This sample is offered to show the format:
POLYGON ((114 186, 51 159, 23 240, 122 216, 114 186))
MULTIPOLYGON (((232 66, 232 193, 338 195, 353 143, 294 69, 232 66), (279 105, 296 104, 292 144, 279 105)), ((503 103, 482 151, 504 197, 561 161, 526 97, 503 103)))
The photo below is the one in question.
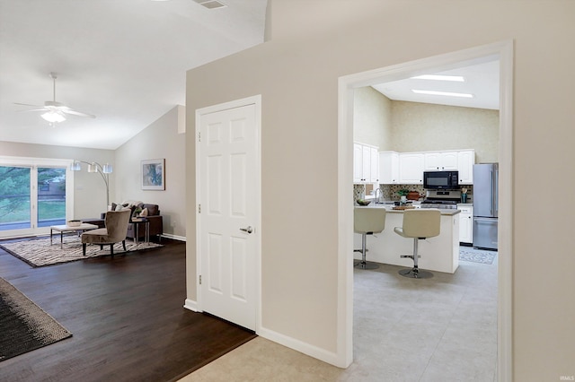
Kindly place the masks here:
MULTIPOLYGON (((115 155, 112 150, 84 149, 67 146, 50 146, 46 144, 0 142, 0 155, 69 159, 78 161, 96 161, 100 164, 114 165, 115 155)), ((114 170, 116 168, 114 167, 114 170)), ((106 187, 100 174, 87 171, 82 164, 81 171, 74 171, 74 217, 75 219, 99 218, 106 211, 106 187)), ((114 200, 116 174, 110 174, 110 199, 114 200)))

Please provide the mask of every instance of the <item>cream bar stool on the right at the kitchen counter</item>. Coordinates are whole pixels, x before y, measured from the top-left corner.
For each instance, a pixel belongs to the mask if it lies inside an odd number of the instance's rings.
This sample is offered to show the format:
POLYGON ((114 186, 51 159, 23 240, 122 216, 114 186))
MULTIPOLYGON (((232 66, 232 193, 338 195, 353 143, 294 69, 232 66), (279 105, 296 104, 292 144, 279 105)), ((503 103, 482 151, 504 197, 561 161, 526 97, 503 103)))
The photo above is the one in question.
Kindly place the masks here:
POLYGON ((418 266, 418 242, 421 239, 433 238, 439 235, 441 225, 441 212, 435 208, 405 210, 403 213, 403 227, 395 227, 394 231, 403 238, 413 239, 413 255, 401 256, 412 258, 413 268, 399 271, 404 277, 413 279, 428 279, 433 277, 429 271, 421 271, 418 266))

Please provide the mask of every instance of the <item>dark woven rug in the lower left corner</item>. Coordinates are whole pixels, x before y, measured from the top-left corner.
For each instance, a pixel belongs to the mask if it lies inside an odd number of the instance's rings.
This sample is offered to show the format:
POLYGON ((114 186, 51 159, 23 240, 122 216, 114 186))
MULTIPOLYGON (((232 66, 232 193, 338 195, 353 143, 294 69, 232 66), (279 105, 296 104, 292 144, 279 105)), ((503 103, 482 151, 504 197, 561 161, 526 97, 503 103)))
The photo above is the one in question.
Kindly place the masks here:
POLYGON ((0 361, 72 336, 3 278, 0 278, 0 328, 0 361))

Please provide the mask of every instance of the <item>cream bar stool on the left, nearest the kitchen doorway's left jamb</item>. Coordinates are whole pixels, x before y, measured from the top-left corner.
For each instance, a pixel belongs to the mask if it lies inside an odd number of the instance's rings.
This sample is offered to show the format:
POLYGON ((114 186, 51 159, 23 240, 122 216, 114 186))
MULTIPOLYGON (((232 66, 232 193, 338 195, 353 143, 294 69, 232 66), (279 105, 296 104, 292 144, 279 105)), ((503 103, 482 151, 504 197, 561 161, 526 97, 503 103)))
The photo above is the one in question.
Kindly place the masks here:
POLYGON ((379 265, 366 261, 367 235, 379 233, 385 229, 385 208, 355 207, 353 211, 353 230, 361 234, 361 249, 354 252, 361 253, 361 261, 354 266, 361 269, 377 269, 379 265))

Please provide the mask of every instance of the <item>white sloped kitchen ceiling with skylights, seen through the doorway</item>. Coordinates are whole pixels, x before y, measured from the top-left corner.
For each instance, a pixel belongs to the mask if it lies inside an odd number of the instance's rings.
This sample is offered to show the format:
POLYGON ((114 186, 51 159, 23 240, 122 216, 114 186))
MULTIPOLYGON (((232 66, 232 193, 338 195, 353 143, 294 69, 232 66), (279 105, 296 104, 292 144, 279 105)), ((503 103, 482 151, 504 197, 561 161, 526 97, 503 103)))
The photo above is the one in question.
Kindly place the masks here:
POLYGON ((446 82, 408 78, 373 85, 390 100, 436 103, 478 109, 500 109, 500 62, 497 56, 482 57, 477 63, 464 63, 447 71, 429 71, 425 74, 461 75, 464 82, 446 82), (412 90, 450 91, 472 94, 473 98, 417 94, 412 90))

